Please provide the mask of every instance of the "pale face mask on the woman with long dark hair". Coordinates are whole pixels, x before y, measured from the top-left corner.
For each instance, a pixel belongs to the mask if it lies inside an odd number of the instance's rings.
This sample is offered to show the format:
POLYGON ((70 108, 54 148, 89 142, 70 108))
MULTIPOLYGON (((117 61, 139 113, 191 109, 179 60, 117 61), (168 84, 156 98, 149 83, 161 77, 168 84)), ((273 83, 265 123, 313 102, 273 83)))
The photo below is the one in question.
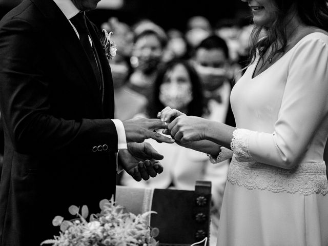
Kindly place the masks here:
POLYGON ((159 101, 172 109, 182 109, 192 101, 190 84, 171 85, 163 83, 159 88, 159 101))

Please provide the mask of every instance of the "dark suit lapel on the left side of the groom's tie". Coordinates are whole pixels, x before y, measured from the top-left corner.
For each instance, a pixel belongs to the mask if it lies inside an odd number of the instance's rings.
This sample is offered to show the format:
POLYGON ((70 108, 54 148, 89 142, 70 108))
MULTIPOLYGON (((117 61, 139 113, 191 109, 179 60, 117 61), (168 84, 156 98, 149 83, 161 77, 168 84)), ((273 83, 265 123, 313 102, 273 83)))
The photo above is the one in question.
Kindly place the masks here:
POLYGON ((70 54, 73 63, 82 74, 85 83, 87 83, 98 108, 102 109, 101 94, 98 88, 95 74, 92 70, 90 61, 81 46, 79 39, 74 32, 66 16, 61 12, 58 6, 52 0, 31 0, 37 8, 49 20, 51 27, 49 30, 52 37, 57 39, 57 43, 64 46, 67 53, 70 54))

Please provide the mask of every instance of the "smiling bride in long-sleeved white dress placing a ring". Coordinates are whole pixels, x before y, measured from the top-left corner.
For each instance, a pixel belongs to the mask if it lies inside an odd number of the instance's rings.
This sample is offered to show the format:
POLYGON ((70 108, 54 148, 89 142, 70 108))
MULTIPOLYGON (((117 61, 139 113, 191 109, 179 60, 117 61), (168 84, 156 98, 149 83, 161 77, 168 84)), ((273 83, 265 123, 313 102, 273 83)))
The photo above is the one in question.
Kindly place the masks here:
POLYGON ((328 3, 243 2, 256 42, 231 93, 236 128, 168 107, 158 117, 213 162, 233 154, 218 246, 327 246, 328 3))

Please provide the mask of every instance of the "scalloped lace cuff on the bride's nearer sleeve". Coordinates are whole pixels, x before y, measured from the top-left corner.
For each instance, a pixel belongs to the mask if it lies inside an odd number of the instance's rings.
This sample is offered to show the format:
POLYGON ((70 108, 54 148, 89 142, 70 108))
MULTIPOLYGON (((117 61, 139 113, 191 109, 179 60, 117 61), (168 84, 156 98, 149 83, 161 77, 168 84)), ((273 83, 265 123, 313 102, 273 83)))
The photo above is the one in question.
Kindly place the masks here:
POLYGON ((238 161, 252 161, 253 158, 249 151, 249 139, 253 131, 247 129, 236 129, 233 132, 231 150, 234 152, 238 161))

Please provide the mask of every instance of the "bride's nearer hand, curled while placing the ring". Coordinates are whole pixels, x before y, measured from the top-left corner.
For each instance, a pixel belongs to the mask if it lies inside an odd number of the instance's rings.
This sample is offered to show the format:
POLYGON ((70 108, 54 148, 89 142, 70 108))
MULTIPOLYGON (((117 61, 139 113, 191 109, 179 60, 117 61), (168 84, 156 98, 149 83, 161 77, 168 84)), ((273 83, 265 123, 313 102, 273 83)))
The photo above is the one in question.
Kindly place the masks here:
POLYGON ((180 141, 182 145, 205 139, 207 128, 208 120, 186 115, 178 116, 168 126, 171 136, 180 141))

